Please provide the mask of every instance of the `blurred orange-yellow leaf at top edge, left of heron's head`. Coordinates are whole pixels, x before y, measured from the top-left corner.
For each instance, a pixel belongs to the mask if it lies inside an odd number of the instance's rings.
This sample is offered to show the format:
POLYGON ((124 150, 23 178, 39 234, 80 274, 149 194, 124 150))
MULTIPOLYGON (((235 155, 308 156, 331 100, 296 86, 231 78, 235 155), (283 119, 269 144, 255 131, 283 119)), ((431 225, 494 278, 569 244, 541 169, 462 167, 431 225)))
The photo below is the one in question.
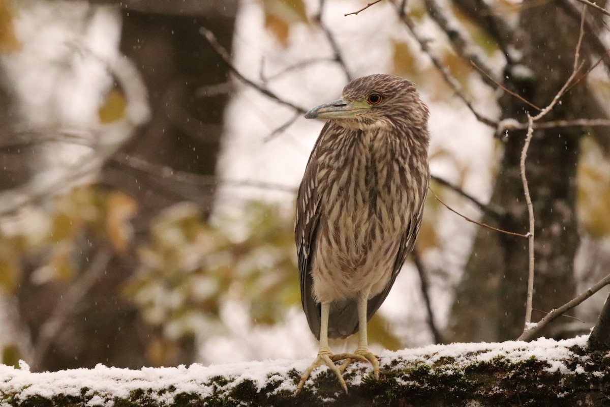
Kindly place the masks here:
POLYGON ((290 26, 307 23, 303 0, 262 0, 265 13, 265 29, 282 46, 288 45, 290 26))

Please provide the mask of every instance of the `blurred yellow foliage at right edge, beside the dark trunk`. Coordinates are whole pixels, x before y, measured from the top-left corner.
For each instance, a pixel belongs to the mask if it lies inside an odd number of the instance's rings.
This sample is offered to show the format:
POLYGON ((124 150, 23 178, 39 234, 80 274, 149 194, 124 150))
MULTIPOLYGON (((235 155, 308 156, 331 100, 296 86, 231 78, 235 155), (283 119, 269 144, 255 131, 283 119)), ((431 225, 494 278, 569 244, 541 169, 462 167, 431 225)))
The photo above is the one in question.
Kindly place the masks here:
POLYGON ((592 137, 581 142, 578 165, 578 219, 594 238, 610 234, 610 162, 592 137))

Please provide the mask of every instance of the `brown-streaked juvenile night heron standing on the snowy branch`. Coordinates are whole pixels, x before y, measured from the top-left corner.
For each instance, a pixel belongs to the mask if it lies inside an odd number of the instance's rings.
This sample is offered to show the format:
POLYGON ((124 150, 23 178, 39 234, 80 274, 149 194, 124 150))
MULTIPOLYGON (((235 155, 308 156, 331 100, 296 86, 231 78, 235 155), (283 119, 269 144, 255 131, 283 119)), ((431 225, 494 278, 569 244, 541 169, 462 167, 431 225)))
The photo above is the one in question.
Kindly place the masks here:
POLYGON ((367 321, 386 299, 422 222, 428 116, 415 85, 386 74, 354 79, 340 99, 305 115, 328 120, 307 162, 295 224, 301 302, 320 350, 295 394, 322 365, 345 392, 342 373, 354 360, 370 361, 379 378, 367 321), (354 353, 332 354, 329 337, 358 330, 354 353))

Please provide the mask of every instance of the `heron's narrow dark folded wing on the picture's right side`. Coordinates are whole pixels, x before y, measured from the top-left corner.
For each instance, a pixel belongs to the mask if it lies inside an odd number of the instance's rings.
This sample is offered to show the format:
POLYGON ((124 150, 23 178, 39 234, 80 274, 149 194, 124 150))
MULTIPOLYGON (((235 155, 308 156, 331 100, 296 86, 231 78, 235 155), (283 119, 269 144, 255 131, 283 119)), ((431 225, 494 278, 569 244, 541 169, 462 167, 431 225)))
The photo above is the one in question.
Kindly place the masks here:
MULTIPOLYGON (((408 254, 411 253, 415 246, 415 239, 417 239, 417 235, 419 234, 420 226, 422 226, 422 217, 423 217, 423 206, 426 201, 426 196, 428 195, 428 180, 430 176, 426 179, 426 187, 422 196, 422 200, 420 201, 420 207, 417 212, 415 212, 411 222, 409 222, 409 226, 407 227, 406 233, 403 235, 403 238, 400 241, 400 248, 398 249, 398 254, 396 256, 396 260, 394 262, 394 268, 392 270, 392 278, 390 278, 390 282, 387 284, 386 288, 379 294, 375 295, 375 297, 368 300, 367 304, 367 317, 370 319, 373 314, 379 309, 383 301, 386 300, 387 295, 392 289, 394 281, 400 273, 400 269, 403 267, 404 260, 407 258, 408 254)), ((356 331, 358 328, 356 327, 356 331)))

